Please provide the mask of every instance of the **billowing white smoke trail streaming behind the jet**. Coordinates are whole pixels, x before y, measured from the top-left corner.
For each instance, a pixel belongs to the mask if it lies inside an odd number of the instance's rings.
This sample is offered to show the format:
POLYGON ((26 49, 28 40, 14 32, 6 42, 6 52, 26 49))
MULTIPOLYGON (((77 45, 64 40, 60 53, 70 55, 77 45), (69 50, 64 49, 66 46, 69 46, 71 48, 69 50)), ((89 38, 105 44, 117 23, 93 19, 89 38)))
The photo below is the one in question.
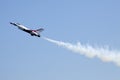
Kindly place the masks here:
POLYGON ((73 45, 71 43, 65 43, 62 41, 57 41, 49 38, 45 38, 45 40, 55 43, 58 46, 62 46, 66 49, 69 49, 73 52, 79 53, 81 55, 85 55, 88 58, 94 58, 97 57, 103 62, 113 62, 116 65, 120 66, 120 52, 119 51, 113 51, 109 49, 104 48, 95 48, 90 45, 82 45, 80 42, 76 45, 73 45))

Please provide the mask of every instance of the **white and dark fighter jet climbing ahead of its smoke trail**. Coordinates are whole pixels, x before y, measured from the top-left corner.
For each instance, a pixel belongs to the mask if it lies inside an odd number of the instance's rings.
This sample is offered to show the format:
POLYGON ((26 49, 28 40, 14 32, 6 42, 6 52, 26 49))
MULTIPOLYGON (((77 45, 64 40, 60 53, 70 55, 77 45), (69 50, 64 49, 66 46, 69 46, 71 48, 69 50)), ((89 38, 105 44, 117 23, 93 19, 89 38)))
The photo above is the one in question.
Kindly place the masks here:
POLYGON ((37 29, 37 30, 31 30, 31 29, 28 29, 28 28, 26 28, 25 26, 23 26, 23 25, 21 25, 19 23, 10 22, 10 24, 12 24, 14 26, 17 26, 20 30, 31 34, 31 36, 40 37, 40 32, 42 32, 44 30, 43 28, 40 28, 40 29, 37 29))

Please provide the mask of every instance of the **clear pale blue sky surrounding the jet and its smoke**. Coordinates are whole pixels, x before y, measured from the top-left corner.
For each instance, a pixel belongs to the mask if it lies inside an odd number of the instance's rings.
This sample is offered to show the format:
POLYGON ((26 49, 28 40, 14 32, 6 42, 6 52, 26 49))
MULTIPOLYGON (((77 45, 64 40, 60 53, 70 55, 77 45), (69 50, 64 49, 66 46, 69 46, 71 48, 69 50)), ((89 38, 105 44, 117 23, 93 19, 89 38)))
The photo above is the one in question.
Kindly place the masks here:
POLYGON ((9 22, 44 37, 120 50, 119 0, 0 1, 0 80, 120 80, 120 67, 89 59, 31 37, 9 22))

